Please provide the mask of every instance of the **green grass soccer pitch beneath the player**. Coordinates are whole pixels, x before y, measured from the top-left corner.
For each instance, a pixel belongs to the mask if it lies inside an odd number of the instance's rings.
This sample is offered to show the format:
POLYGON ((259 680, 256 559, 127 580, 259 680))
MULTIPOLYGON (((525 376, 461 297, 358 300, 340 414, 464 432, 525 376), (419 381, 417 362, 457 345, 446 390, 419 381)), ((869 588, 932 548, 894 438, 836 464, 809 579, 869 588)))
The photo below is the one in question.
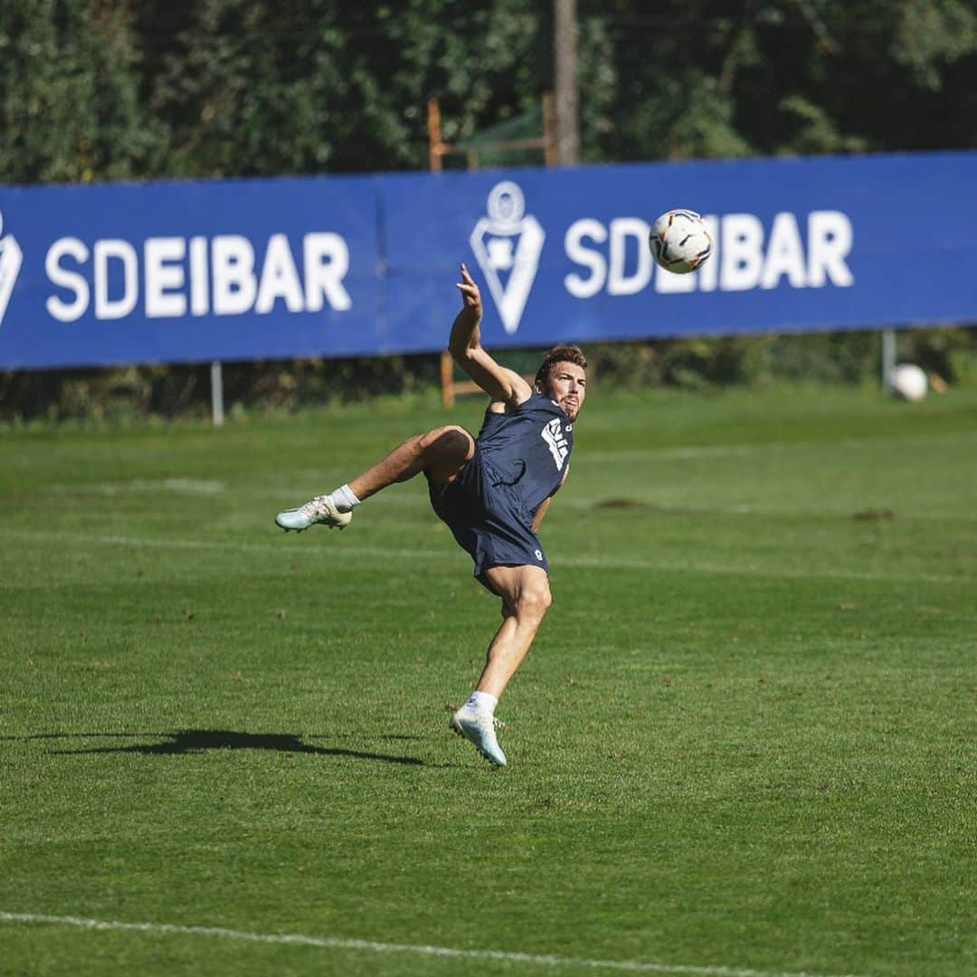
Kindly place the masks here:
POLYGON ((272 524, 445 420, 0 436, 0 973, 977 973, 977 393, 594 391, 505 770, 423 484, 272 524))

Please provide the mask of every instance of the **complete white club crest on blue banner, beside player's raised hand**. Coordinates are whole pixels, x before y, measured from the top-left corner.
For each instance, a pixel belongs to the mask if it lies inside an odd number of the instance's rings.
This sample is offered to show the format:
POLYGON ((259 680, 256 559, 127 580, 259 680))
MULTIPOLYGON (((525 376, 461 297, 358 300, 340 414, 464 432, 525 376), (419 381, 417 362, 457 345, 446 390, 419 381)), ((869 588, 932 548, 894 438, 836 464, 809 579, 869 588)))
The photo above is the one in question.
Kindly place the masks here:
POLYGON ((526 214, 523 191, 511 180, 492 188, 486 210, 487 216, 475 225, 469 241, 502 327, 512 335, 523 318, 546 234, 526 214))

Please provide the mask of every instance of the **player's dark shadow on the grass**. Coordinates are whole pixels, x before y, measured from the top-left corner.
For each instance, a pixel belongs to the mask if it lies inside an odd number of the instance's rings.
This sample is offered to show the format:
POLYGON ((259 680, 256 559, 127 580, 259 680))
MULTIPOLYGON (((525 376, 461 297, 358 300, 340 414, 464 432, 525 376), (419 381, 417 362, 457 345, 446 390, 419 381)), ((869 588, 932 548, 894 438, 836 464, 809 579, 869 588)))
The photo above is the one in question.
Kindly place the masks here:
POLYGON ((408 766, 428 766, 413 756, 394 756, 339 746, 314 746, 290 733, 234 733, 231 730, 178 730, 175 733, 49 733, 26 737, 0 737, 2 740, 60 740, 89 738, 166 737, 166 743, 138 743, 131 746, 94 746, 89 749, 56 749, 55 756, 80 756, 89 753, 143 753, 169 755, 199 753, 206 749, 271 749, 279 753, 314 753, 317 756, 348 756, 356 760, 380 760, 408 766))

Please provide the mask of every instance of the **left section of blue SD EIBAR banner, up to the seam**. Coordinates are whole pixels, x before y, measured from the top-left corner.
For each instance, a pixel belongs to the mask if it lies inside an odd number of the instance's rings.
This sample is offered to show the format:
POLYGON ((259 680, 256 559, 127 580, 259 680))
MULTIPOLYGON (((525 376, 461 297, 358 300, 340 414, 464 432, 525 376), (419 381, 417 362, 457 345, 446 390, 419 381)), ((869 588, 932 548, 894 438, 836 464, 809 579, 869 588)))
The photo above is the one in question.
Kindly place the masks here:
POLYGON ((374 183, 0 190, 0 365, 383 352, 374 183))

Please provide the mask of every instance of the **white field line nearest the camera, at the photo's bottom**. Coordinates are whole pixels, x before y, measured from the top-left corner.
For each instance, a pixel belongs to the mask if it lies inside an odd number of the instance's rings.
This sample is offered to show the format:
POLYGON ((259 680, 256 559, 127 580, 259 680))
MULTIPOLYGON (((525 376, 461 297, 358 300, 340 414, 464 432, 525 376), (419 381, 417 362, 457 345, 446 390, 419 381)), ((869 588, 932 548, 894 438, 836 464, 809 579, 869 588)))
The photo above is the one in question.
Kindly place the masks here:
MULTIPOLYGON (((651 963, 644 960, 593 960, 573 956, 548 956, 511 953, 504 950, 457 950, 453 947, 431 947, 423 944, 376 943, 372 940, 348 940, 333 936, 303 936, 300 933, 251 933, 221 926, 177 926, 172 923, 116 922, 86 919, 80 916, 42 915, 38 913, 0 913, 0 920, 10 923, 47 923, 78 926, 82 929, 122 932, 159 933, 178 936, 217 936, 251 943, 283 943, 323 950, 354 950, 375 954, 417 954, 420 956, 461 957, 475 960, 502 960, 545 967, 578 967, 591 970, 627 970, 639 973, 700 974, 702 977, 828 977, 802 971, 751 970, 743 967, 693 966, 688 964, 651 963)), ((841 975, 838 975, 841 977, 841 975)), ((844 975, 852 977, 852 975, 844 975)))

